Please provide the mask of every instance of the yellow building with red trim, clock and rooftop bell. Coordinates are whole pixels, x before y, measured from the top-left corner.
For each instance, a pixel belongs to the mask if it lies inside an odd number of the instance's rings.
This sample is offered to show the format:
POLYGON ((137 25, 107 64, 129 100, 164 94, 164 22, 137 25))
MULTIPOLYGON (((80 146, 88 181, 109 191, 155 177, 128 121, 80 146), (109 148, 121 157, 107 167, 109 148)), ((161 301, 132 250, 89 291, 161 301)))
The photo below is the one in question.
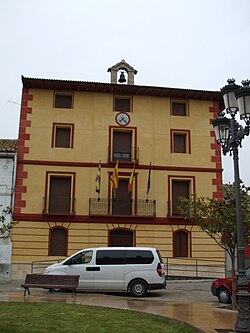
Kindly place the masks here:
POLYGON ((95 246, 224 260, 177 208, 180 196, 222 198, 220 93, 137 86, 124 60, 108 71, 111 83, 22 77, 15 277, 95 246))

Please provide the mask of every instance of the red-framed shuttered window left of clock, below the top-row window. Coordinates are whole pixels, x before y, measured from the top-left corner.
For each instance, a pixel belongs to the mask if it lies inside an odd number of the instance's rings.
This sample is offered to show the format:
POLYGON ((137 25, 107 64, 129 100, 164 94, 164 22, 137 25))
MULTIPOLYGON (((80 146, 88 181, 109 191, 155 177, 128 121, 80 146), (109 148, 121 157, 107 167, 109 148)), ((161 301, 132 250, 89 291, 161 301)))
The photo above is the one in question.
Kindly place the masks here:
POLYGON ((74 124, 53 124, 52 147, 73 148, 74 124))

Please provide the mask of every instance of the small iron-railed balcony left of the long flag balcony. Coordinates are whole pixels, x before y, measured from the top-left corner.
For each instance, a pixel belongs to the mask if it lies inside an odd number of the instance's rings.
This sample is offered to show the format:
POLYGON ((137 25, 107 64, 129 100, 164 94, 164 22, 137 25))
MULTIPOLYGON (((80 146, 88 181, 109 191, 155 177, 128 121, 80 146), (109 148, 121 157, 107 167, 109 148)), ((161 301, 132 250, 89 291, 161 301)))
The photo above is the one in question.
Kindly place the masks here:
POLYGON ((75 215, 75 198, 58 194, 56 198, 43 198, 43 214, 75 215))

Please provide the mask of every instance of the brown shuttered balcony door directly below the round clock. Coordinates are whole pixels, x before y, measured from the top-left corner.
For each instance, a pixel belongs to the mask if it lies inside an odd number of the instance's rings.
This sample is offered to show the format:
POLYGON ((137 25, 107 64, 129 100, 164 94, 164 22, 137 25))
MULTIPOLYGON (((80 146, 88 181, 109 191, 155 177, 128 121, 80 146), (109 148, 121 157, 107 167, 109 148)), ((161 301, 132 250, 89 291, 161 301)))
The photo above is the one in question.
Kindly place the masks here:
POLYGON ((113 132, 113 161, 131 161, 132 132, 113 132))

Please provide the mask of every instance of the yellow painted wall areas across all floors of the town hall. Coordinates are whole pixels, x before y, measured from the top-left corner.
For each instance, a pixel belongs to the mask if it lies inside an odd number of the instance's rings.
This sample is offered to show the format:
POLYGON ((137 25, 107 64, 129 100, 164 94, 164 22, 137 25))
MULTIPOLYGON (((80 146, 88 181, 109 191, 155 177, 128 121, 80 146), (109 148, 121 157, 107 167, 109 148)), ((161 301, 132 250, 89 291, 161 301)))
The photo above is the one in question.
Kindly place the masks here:
MULTIPOLYGON (((61 161, 79 163, 107 163, 109 126, 117 126, 116 112, 113 112, 113 95, 103 93, 74 93, 73 109, 53 108, 53 91, 32 90, 33 100, 29 101, 32 113, 27 116, 31 127, 27 128, 30 140, 25 146, 30 161, 61 161), (52 148, 52 124, 74 123, 74 148, 52 148)), ((211 161, 210 150, 214 139, 210 136, 212 127, 209 122, 212 102, 190 100, 189 116, 170 115, 170 99, 159 97, 133 97, 133 112, 128 126, 137 127, 139 165, 161 167, 215 168, 211 161), (170 153, 170 129, 190 130, 191 154, 170 153)), ((108 197, 108 172, 112 168, 102 168, 101 197, 108 197)), ((97 197, 95 192, 96 167, 55 166, 24 164, 28 178, 23 185, 27 187, 22 194, 26 207, 23 214, 41 214, 45 195, 46 171, 76 173, 76 214, 88 215, 89 198, 97 197)), ((131 169, 120 169, 131 172, 131 169)), ((137 198, 146 198, 148 170, 137 169, 137 198)), ((202 196, 212 196, 216 186, 212 185, 213 172, 152 170, 149 199, 156 200, 157 217, 167 218, 168 176, 195 177, 196 192, 202 196)), ((102 223, 71 223, 62 220, 69 227, 68 254, 79 249, 94 246, 107 246, 108 230, 123 225, 102 223)), ((13 262, 28 262, 48 259, 49 228, 54 222, 21 221, 13 230, 13 262)), ((128 224, 136 232, 137 246, 156 246, 163 257, 172 256, 172 232, 178 228, 190 230, 192 257, 224 258, 224 252, 205 233, 195 226, 171 226, 154 224, 128 224)), ((51 258, 50 258, 51 259, 51 258)))

